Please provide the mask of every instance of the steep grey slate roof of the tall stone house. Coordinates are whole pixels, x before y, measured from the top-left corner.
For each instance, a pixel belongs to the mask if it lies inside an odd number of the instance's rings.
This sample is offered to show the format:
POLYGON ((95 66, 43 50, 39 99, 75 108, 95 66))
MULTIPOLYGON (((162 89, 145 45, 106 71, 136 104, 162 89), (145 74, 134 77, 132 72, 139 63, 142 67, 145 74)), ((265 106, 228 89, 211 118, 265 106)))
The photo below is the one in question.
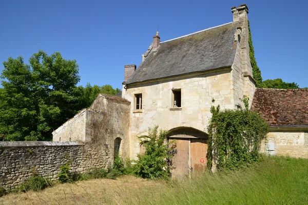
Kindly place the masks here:
POLYGON ((236 44, 233 23, 160 43, 126 84, 232 66, 236 44))

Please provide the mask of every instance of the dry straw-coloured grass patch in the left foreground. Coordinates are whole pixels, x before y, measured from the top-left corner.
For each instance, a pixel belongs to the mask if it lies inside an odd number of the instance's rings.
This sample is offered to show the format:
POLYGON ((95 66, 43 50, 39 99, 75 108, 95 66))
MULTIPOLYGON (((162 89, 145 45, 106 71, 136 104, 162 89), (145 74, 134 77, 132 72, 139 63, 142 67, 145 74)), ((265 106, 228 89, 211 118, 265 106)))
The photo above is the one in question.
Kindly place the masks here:
POLYGON ((0 197, 0 204, 119 204, 123 198, 132 196, 144 187, 164 184, 164 181, 149 181, 126 175, 117 180, 94 179, 64 183, 41 192, 12 193, 0 197))

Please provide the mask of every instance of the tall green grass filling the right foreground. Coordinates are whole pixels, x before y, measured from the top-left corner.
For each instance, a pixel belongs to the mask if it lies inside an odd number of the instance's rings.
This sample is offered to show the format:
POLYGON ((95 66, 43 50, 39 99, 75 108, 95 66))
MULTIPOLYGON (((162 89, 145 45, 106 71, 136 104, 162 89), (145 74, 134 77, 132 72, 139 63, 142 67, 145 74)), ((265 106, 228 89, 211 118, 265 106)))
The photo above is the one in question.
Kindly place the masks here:
POLYGON ((171 180, 165 187, 144 188, 119 203, 308 204, 308 160, 264 157, 241 170, 207 172, 171 180))

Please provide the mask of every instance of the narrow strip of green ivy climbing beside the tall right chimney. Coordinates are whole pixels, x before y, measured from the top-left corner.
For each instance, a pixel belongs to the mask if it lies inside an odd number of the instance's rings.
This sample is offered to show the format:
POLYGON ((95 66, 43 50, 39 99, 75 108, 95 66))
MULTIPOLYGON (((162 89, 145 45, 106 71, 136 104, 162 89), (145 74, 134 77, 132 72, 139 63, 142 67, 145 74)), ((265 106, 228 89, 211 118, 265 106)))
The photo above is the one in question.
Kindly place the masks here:
POLYGON ((249 26, 249 20, 248 20, 248 31, 249 31, 249 36, 248 36, 249 57, 250 57, 251 65, 253 68, 253 77, 256 80, 256 87, 261 88, 262 87, 262 76, 261 76, 261 71, 257 65, 257 61, 255 58, 255 51, 254 51, 254 46, 253 46, 252 33, 251 33, 250 26, 249 26))

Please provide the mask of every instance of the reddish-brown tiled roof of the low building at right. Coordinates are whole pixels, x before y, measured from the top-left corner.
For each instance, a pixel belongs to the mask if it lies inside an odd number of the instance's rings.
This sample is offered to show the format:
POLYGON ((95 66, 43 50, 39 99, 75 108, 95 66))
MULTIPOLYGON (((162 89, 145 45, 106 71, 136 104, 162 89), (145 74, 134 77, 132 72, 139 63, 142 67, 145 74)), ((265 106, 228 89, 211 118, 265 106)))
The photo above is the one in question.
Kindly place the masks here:
POLYGON ((308 89, 258 88, 252 110, 271 125, 308 125, 308 89))

